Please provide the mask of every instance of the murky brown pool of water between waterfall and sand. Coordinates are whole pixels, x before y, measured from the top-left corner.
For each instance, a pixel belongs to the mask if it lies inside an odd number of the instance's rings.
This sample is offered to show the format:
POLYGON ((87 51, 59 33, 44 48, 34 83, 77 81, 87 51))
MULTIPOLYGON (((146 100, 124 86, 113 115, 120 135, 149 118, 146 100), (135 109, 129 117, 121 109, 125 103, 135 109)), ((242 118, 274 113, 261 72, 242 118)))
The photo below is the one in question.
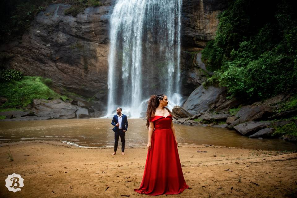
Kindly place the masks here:
MULTIPOLYGON (((0 122, 0 142, 57 140, 80 147, 106 147, 114 145, 112 119, 51 119, 0 122)), ((146 145, 146 121, 129 119, 125 145, 146 145)), ((184 126, 174 124, 181 144, 212 144, 247 149, 297 150, 297 144, 281 139, 252 139, 235 131, 218 127, 184 126)), ((120 140, 119 140, 120 142, 120 140)), ((119 147, 120 147, 119 143, 119 147)))

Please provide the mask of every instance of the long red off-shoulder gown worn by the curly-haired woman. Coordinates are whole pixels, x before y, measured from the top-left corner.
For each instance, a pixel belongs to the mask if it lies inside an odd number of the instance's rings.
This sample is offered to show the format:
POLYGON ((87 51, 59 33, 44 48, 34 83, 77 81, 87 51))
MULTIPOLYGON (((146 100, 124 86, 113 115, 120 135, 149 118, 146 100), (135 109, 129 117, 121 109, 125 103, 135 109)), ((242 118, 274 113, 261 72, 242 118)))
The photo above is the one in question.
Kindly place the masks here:
POLYGON ((183 177, 177 144, 171 129, 172 116, 154 116, 152 147, 148 150, 144 174, 139 189, 147 195, 179 194, 189 186, 183 177))

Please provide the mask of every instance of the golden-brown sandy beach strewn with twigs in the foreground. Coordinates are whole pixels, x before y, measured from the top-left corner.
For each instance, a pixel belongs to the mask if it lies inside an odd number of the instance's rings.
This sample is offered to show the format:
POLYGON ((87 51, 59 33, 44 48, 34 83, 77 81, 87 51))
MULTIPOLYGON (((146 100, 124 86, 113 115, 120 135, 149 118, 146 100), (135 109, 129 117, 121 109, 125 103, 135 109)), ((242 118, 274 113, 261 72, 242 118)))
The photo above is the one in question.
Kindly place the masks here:
MULTIPOLYGON (((190 189, 157 197, 297 196, 297 153, 213 145, 179 145, 178 150, 190 189)), ((152 197, 133 190, 141 183, 147 149, 112 152, 55 141, 0 144, 0 197, 152 197), (13 173, 24 179, 21 191, 5 187, 13 173)))

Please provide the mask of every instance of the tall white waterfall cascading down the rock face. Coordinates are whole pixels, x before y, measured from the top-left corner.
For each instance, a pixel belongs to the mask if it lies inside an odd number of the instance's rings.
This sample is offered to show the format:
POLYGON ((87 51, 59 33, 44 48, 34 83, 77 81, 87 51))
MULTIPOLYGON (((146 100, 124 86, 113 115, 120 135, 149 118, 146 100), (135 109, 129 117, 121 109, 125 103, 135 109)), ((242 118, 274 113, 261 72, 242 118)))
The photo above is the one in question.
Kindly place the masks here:
POLYGON ((118 0, 110 18, 108 109, 141 117, 150 95, 180 103, 182 0, 118 0))

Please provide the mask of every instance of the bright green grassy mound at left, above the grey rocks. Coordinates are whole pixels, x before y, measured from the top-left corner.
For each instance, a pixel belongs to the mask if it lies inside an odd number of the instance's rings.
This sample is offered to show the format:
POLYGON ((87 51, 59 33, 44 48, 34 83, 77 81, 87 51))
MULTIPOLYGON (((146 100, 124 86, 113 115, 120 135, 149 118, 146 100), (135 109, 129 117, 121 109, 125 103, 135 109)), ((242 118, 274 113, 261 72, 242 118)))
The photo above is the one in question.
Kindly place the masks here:
MULTIPOLYGON (((57 99, 62 97, 43 82, 49 82, 49 80, 42 77, 24 76, 19 81, 2 82, 0 84, 0 95, 7 98, 8 101, 2 104, 0 109, 26 108, 33 99, 57 99)), ((67 97, 62 98, 66 99, 67 97)))

